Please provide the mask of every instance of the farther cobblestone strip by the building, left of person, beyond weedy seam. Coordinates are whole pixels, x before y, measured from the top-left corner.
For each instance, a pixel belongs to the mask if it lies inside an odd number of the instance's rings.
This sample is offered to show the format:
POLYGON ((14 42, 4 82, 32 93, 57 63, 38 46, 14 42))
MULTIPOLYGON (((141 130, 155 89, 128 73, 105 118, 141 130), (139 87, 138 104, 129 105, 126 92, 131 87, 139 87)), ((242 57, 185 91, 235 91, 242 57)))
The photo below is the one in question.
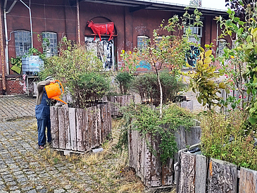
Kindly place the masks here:
POLYGON ((0 95, 0 122, 27 116, 35 116, 36 99, 26 96, 0 95))

